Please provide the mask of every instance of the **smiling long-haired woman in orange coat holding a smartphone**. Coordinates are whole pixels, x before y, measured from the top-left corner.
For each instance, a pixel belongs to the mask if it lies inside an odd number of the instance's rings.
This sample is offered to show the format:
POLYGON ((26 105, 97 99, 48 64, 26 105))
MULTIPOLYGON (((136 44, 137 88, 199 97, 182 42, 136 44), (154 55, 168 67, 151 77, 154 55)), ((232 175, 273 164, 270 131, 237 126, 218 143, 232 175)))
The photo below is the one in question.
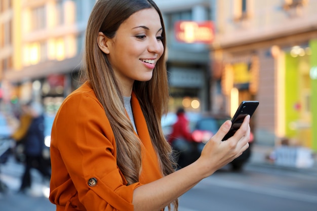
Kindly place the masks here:
POLYGON ((152 0, 99 0, 86 29, 85 82, 52 127, 50 200, 56 210, 177 210, 178 197, 247 149, 247 117, 175 172, 161 117, 168 110, 166 34, 152 0), (170 205, 172 204, 172 205, 170 205))

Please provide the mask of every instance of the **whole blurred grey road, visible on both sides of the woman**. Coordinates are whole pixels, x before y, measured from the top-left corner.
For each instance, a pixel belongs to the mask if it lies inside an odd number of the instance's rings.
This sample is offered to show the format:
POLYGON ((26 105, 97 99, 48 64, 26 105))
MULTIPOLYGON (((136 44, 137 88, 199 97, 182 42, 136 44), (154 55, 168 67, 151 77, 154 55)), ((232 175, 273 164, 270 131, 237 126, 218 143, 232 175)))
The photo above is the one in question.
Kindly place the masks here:
MULTIPOLYGON (((28 195, 16 193, 22 174, 20 164, 9 162, 1 166, 1 171, 7 173, 0 174, 0 178, 10 189, 0 195, 1 211, 55 211, 45 197, 48 186, 35 170, 32 172, 35 182, 28 195)), ((223 168, 179 199, 179 211, 316 211, 316 207, 316 172, 252 164, 241 173, 223 168)))

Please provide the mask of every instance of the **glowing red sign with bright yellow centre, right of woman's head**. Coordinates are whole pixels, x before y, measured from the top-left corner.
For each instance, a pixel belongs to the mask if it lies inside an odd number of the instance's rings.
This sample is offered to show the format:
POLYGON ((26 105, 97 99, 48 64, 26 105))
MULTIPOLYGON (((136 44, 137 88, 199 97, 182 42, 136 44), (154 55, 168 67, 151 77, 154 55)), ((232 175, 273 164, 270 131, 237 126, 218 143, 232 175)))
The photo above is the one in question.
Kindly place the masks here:
POLYGON ((210 44, 214 40, 212 21, 177 21, 174 26, 176 39, 183 43, 210 44))

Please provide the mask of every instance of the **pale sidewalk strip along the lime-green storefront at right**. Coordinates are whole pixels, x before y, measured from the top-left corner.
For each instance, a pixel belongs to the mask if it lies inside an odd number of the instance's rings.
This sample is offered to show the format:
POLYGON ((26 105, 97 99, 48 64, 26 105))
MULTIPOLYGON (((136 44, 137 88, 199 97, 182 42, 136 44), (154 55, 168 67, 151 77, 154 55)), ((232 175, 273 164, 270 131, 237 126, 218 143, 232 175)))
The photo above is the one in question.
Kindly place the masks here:
POLYGON ((252 154, 248 164, 254 166, 258 165, 263 167, 279 168, 288 171, 306 172, 317 176, 317 156, 314 156, 314 163, 312 167, 278 165, 266 159, 266 156, 269 155, 273 150, 274 146, 253 144, 252 154))

